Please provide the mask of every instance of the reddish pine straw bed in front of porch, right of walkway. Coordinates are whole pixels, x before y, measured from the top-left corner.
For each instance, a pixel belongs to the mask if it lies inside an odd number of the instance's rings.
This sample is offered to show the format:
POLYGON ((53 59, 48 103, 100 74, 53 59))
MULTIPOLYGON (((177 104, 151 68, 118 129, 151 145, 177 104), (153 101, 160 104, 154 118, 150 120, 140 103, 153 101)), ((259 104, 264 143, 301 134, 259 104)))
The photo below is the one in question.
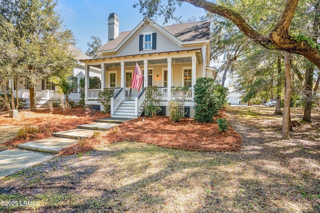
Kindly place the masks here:
MULTIPOLYGON (((225 117, 220 111, 218 117, 225 117)), ((215 118, 214 120, 216 120, 215 118)), ((199 123, 184 118, 173 123, 168 117, 138 118, 114 127, 102 136, 109 143, 135 141, 186 151, 239 151, 241 136, 230 126, 225 132, 218 130, 215 121, 199 123)))

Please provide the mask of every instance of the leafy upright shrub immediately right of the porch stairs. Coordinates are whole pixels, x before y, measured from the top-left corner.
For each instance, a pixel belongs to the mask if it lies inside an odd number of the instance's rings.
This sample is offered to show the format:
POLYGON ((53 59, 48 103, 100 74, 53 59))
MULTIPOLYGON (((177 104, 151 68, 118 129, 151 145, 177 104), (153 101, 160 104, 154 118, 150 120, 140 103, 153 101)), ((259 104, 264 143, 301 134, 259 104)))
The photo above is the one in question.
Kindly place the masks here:
POLYGON ((149 86, 145 88, 145 116, 155 117, 161 111, 160 99, 161 92, 157 86, 149 86))

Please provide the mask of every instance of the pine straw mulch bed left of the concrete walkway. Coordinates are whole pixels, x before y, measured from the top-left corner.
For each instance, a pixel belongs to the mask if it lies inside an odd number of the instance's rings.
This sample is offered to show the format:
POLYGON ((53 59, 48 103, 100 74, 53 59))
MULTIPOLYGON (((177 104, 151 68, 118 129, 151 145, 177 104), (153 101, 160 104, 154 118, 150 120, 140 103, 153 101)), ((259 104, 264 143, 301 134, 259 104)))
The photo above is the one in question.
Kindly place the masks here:
POLYGON ((39 130, 38 133, 26 134, 26 137, 23 138, 16 136, 4 142, 3 145, 12 148, 21 143, 52 137, 53 132, 74 129, 79 124, 92 123, 96 119, 107 117, 110 117, 109 114, 99 111, 85 114, 82 107, 71 108, 67 115, 62 112, 60 107, 55 107, 52 113, 45 108, 38 108, 35 111, 22 110, 15 118, 10 118, 8 113, 1 113, 0 126, 11 125, 21 126, 21 128, 36 126, 39 130))

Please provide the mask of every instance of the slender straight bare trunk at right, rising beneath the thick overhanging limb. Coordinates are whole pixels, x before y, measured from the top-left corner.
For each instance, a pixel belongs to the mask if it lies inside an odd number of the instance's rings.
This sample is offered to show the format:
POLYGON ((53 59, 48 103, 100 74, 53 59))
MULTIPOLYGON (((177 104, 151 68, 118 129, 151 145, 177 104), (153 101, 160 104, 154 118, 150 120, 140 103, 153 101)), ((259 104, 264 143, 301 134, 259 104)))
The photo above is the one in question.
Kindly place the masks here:
POLYGON ((290 118, 290 97, 292 94, 292 81, 290 73, 290 53, 284 52, 284 77, 285 77, 285 92, 283 100, 283 116, 282 116, 282 139, 289 139, 289 130, 291 127, 290 118))

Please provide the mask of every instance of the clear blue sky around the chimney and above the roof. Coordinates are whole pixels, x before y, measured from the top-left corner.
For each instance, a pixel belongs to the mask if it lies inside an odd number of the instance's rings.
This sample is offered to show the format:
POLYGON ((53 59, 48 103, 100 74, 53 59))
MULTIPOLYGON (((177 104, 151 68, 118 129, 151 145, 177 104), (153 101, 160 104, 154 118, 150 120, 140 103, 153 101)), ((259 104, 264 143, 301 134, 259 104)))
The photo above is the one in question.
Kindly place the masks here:
MULTIPOLYGON (((57 11, 64 20, 67 29, 73 32, 76 45, 83 53, 87 50, 87 42, 92 35, 99 37, 102 45, 107 41, 107 19, 114 12, 119 18, 119 32, 132 30, 142 19, 138 8, 133 8, 134 0, 58 0, 57 11)), ((177 7, 174 16, 182 16, 181 20, 189 17, 205 15, 205 10, 190 3, 183 2, 177 7)), ((164 18, 155 20, 162 25, 164 18)), ((165 25, 174 24, 169 20, 165 25)))

